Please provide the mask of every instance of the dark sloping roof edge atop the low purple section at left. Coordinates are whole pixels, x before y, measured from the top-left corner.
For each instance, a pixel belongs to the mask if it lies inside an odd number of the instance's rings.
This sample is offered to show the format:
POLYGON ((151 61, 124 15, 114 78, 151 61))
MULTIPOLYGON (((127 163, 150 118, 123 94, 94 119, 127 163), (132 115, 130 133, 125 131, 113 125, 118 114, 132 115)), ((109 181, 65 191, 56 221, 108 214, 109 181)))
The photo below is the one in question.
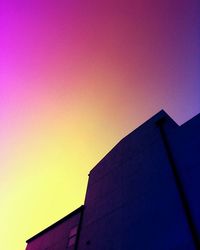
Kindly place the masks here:
POLYGON ((71 213, 69 213, 68 215, 66 215, 65 217, 63 217, 62 219, 56 221, 54 224, 50 225, 49 227, 45 228, 44 230, 42 230, 41 232, 35 234, 34 236, 32 236, 31 238, 29 238, 26 243, 30 243, 32 240, 40 237, 41 235, 43 235, 44 233, 48 232, 49 230, 51 230, 52 228, 56 227, 57 225, 63 223, 64 221, 70 219, 71 217, 73 217, 76 214, 79 214, 83 211, 84 205, 80 206, 79 208, 77 208, 76 210, 72 211, 71 213))

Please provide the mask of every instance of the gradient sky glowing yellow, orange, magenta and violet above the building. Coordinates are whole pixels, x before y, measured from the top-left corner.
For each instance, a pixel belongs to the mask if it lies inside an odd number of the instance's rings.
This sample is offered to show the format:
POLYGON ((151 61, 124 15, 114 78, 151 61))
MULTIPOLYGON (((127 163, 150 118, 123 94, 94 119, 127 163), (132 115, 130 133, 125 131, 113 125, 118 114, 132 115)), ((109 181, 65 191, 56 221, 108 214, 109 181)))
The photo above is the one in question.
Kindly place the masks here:
POLYGON ((89 170, 160 109, 200 110, 199 0, 0 0, 0 249, 84 202, 89 170))

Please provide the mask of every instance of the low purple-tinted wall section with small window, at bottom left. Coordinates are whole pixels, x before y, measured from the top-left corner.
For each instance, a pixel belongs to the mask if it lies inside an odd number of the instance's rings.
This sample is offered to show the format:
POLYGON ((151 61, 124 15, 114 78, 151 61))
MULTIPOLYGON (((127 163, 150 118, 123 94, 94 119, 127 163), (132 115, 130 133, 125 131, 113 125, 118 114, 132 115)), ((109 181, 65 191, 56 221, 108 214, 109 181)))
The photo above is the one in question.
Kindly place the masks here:
POLYGON ((66 216, 27 241, 26 250, 74 250, 82 209, 66 216))

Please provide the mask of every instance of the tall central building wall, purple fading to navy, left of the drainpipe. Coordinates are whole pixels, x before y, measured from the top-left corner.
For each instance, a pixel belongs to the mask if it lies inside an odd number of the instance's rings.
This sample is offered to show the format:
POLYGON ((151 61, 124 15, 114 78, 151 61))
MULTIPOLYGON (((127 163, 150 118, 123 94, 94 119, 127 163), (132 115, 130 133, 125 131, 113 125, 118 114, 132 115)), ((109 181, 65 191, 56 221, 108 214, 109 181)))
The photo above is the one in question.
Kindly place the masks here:
POLYGON ((176 135, 178 125, 160 112, 90 172, 79 250, 195 249, 156 124, 162 117, 165 132, 176 135))

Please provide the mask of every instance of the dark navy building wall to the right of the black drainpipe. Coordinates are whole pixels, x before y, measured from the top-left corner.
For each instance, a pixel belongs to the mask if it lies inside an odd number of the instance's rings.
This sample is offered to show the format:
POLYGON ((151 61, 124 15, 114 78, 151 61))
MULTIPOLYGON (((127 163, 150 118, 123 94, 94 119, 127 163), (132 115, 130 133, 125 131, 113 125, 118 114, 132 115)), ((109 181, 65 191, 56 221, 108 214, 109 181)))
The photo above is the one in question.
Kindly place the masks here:
POLYGON ((200 114, 168 135, 173 157, 200 238, 200 114))

